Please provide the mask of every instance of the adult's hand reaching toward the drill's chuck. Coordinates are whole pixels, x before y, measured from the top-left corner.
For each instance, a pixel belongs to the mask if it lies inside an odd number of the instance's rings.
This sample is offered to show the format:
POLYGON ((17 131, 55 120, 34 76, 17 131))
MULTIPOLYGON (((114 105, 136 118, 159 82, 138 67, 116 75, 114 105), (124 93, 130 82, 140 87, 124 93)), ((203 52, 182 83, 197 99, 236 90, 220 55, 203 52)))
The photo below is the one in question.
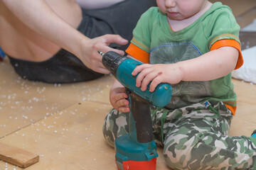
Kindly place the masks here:
POLYGON ((110 43, 117 43, 119 45, 126 45, 128 40, 125 40, 119 35, 102 35, 97 38, 83 39, 81 41, 81 51, 80 59, 86 65, 86 67, 92 69, 95 72, 102 74, 109 74, 110 71, 107 70, 102 64, 102 56, 97 52, 108 52, 114 51, 119 53, 119 55, 124 55, 122 50, 116 50, 109 47, 110 43))

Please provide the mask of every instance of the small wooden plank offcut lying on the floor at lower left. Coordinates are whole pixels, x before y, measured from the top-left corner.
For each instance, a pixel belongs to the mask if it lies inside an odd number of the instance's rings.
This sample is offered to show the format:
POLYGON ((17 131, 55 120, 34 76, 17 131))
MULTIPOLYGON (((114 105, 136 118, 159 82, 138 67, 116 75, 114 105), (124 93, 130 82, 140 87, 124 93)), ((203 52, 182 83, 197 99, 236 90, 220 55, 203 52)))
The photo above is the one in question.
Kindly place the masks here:
POLYGON ((39 156, 32 152, 0 142, 0 159, 21 168, 26 168, 38 162, 39 156))

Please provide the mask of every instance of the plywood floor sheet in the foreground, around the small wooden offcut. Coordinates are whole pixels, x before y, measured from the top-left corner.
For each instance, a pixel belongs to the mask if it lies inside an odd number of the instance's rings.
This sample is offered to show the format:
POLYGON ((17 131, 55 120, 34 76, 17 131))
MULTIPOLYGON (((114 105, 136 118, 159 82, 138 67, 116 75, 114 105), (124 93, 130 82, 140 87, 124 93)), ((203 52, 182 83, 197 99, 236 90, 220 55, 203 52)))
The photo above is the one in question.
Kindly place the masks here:
MULTIPOLYGON (((0 142, 40 155, 40 162, 28 166, 27 170, 113 170, 116 169, 114 149, 105 143, 102 135, 103 120, 111 108, 108 104, 81 101, 2 138, 0 142)), ((158 152, 157 169, 169 169, 161 148, 158 152)), ((5 162, 0 162, 0 169, 5 166, 5 162)))

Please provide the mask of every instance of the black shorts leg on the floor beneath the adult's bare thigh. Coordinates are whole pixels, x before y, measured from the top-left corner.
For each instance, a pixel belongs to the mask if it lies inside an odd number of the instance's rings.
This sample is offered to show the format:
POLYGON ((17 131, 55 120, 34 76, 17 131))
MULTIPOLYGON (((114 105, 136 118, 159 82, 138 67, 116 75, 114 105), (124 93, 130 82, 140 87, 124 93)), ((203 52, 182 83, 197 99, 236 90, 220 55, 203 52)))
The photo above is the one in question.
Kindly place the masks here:
POLYGON ((9 60, 17 74, 31 81, 64 84, 90 81, 104 75, 88 69, 78 57, 63 49, 44 62, 17 60, 10 56, 9 60))

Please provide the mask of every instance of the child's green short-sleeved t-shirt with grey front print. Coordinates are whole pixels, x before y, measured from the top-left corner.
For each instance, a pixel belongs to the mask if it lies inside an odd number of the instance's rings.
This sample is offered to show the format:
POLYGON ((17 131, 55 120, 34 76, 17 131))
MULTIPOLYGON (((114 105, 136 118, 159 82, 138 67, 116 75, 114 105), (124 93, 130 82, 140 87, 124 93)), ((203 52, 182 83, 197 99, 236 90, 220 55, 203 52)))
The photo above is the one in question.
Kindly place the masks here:
MULTIPOLYGON (((151 64, 171 64, 209 52, 218 40, 240 43, 239 30, 231 9, 220 2, 190 26, 176 32, 171 30, 166 15, 158 7, 151 7, 134 28, 132 44, 150 53, 151 64)), ((207 100, 236 106, 231 74, 212 81, 181 81, 173 85, 173 97, 167 107, 181 108, 207 100)))

